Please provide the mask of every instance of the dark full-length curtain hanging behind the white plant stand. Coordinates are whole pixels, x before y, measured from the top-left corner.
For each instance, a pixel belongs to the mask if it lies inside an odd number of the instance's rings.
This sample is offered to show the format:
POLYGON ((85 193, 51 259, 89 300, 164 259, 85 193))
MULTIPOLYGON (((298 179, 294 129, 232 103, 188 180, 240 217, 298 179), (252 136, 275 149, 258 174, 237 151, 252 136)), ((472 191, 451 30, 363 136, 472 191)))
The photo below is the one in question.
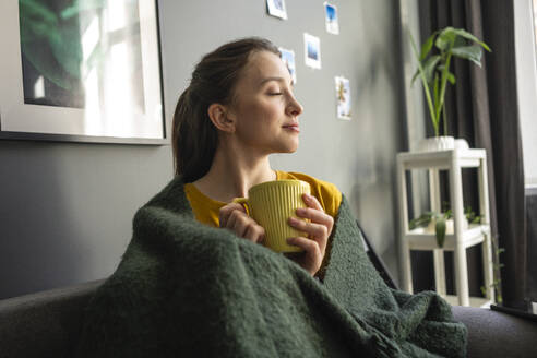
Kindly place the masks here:
MULTIPOLYGON (((520 133, 515 48, 515 0, 420 1, 421 39, 445 26, 465 28, 492 49, 482 68, 455 59, 455 86, 446 92, 449 135, 463 138, 470 147, 487 151, 492 239, 505 251, 500 255, 503 303, 526 308, 526 215, 524 167, 520 133)), ((429 133, 433 135, 432 130, 429 133)), ((465 206, 479 208, 476 172, 463 172, 465 206)), ((448 258, 446 263, 452 263, 448 258)), ((430 259, 422 258, 422 261, 430 259)), ((419 259, 418 259, 419 261, 419 259)), ((452 272, 448 267, 446 274, 452 272)), ((470 295, 482 285, 480 246, 468 250, 470 295)), ((451 267, 452 268, 452 267, 451 267)), ((448 289, 453 290, 450 275, 448 289)), ((429 288, 429 277, 416 277, 417 287, 429 288), (421 281, 421 282, 420 282, 421 281)))

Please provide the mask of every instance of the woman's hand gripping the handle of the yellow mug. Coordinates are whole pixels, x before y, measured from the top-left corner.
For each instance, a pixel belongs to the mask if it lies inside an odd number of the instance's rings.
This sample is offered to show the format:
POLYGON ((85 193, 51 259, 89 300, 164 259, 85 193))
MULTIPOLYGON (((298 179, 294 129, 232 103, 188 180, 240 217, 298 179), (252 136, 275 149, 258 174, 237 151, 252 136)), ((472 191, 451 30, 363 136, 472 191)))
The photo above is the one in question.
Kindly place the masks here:
POLYGON ((261 242, 265 238, 265 229, 248 216, 241 204, 230 203, 223 206, 218 217, 220 227, 231 230, 240 238, 252 242, 261 242))

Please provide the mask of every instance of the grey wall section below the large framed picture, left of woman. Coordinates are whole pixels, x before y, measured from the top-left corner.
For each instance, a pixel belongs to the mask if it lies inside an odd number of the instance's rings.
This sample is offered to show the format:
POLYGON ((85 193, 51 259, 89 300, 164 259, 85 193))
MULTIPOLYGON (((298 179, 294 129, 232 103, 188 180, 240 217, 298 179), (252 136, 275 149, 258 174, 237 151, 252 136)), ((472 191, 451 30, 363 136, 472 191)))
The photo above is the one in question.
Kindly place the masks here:
POLYGON ((169 146, 0 142, 0 298, 110 274, 169 146))

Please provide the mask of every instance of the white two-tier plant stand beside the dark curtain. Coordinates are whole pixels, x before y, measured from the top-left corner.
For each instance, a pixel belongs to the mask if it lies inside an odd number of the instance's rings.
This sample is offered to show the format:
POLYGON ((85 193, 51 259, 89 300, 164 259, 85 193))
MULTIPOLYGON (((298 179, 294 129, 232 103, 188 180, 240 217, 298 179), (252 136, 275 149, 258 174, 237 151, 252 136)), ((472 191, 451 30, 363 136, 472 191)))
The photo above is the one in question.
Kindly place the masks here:
MULTIPOLYGON (((490 214, 487 183, 487 160, 485 150, 452 150, 441 152, 405 152, 397 154, 397 192, 399 204, 399 262, 402 264, 402 287, 413 293, 410 250, 433 251, 435 290, 451 305, 487 307, 494 300, 492 287, 492 252, 490 238, 490 214), (479 211, 481 223, 466 225, 463 202, 462 168, 478 168, 479 211), (422 228, 409 230, 406 170, 427 169, 431 211, 440 213, 439 170, 449 171, 450 201, 454 230, 446 232, 444 247, 439 248, 434 232, 422 228), (482 243, 482 263, 486 298, 469 297, 466 249, 482 243), (446 295, 444 250, 454 252, 456 296, 446 295)), ((421 213, 416 213, 419 215, 421 213)))

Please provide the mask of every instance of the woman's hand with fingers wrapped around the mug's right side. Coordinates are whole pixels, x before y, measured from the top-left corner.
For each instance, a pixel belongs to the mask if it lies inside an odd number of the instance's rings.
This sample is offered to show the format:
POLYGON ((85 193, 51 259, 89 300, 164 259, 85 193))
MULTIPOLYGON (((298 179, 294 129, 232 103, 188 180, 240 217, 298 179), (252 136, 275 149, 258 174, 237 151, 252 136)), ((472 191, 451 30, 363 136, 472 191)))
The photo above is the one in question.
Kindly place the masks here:
POLYGON ((288 238, 287 243, 305 250, 298 256, 293 255, 294 261, 311 275, 314 275, 321 268, 326 243, 334 227, 334 218, 324 213, 315 196, 302 194, 302 200, 308 207, 297 208, 297 216, 309 218, 311 222, 308 223, 296 217, 289 217, 288 223, 297 230, 308 234, 308 238, 288 238))

